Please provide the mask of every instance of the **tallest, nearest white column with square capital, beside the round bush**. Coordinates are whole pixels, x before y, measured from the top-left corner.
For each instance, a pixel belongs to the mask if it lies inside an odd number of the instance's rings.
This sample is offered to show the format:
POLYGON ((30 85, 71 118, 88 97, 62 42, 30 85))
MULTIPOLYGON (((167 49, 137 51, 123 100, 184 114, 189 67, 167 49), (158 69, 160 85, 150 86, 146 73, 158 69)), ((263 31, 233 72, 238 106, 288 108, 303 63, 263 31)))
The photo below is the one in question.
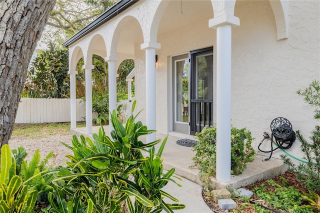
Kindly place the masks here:
POLYGON ((239 25, 235 16, 209 20, 216 28, 216 179, 231 179, 231 27, 239 25))

